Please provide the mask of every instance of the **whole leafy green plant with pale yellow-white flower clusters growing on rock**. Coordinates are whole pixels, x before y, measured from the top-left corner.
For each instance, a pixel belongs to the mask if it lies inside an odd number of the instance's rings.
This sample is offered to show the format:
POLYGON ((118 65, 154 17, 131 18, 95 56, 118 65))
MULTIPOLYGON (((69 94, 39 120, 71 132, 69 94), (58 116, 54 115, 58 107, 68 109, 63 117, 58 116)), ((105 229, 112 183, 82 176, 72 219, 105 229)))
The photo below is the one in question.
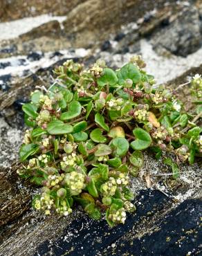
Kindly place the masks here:
MULTIPOLYGON (((94 219, 105 212, 113 227, 136 210, 129 177, 143 166, 143 150, 156 158, 169 152, 178 162, 201 156, 201 77, 191 82, 197 108, 186 113, 172 89, 156 86, 144 66, 134 57, 116 71, 102 60, 85 70, 69 60, 55 69, 57 80, 45 93, 32 93, 22 108, 31 128, 18 173, 43 187, 35 209, 66 216, 77 202, 94 219)), ((177 179, 178 165, 170 158, 164 163, 177 179)))

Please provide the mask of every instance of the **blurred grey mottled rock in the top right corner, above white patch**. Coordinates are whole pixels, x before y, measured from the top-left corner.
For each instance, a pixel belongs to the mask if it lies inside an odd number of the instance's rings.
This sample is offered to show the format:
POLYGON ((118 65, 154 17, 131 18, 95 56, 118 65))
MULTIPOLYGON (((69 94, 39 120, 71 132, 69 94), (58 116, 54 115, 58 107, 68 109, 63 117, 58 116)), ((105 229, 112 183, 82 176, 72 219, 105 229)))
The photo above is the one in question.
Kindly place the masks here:
POLYGON ((154 37, 152 44, 158 49, 163 46, 175 55, 186 57, 194 53, 202 45, 199 11, 194 6, 186 8, 168 26, 161 28, 154 37))

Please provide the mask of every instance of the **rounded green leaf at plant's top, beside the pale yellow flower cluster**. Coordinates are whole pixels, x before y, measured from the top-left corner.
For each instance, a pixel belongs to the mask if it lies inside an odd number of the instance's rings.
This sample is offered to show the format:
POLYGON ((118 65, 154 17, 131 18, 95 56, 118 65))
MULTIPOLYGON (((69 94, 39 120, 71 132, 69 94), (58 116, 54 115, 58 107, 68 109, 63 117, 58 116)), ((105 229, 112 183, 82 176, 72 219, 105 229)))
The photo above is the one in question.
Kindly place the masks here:
POLYGON ((99 86, 115 85, 118 82, 116 73, 111 68, 104 68, 103 75, 97 80, 99 86))

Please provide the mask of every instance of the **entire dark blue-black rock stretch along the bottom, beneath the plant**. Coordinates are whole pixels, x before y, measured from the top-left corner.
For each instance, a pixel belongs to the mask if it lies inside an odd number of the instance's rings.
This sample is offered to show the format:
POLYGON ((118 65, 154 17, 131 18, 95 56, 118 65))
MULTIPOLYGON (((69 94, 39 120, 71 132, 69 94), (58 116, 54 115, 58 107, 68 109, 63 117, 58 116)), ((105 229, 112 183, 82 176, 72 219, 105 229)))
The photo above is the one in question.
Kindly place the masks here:
POLYGON ((130 214, 125 225, 111 229, 104 221, 75 219, 54 243, 41 244, 35 255, 201 255, 201 200, 184 201, 171 212, 167 209, 167 214, 160 212, 171 199, 157 190, 141 191, 138 201, 137 212, 130 214), (141 225, 152 228, 141 230, 141 225))

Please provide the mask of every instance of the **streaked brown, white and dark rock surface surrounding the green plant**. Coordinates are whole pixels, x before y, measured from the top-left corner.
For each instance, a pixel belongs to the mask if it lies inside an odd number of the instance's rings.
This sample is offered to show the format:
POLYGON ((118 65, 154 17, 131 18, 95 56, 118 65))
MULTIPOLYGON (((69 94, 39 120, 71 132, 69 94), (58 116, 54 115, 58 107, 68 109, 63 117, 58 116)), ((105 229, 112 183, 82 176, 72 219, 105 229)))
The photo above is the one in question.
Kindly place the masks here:
MULTIPOLYGON (((157 83, 178 86, 202 73, 202 1, 0 0, 0 255, 202 255, 201 163, 170 170, 145 152, 131 181, 137 211, 110 229, 80 210, 44 217, 39 192, 17 177, 24 129, 21 104, 53 82, 64 60, 113 67, 134 54, 157 83)), ((178 90, 183 101, 187 89, 178 90)))

